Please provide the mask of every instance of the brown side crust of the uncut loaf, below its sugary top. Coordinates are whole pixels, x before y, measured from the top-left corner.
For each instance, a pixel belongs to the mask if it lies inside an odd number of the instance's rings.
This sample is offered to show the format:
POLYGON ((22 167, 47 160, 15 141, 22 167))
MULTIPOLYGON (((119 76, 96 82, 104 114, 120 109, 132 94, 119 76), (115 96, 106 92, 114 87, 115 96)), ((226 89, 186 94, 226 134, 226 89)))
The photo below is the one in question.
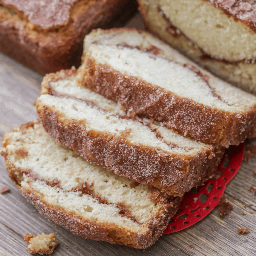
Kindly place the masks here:
POLYGON ((67 26, 42 30, 1 7, 1 51, 43 75, 78 67, 84 36, 93 28, 122 26, 136 12, 137 3, 102 0, 84 9, 67 26))

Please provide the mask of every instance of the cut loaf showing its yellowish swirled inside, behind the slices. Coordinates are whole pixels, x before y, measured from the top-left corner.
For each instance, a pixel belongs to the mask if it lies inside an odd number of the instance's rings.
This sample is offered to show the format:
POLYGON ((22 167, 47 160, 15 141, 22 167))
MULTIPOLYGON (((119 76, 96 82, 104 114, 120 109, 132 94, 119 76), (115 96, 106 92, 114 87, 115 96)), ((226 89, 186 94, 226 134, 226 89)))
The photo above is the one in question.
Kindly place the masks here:
POLYGON ((146 28, 215 75, 256 94, 255 0, 138 0, 146 28))

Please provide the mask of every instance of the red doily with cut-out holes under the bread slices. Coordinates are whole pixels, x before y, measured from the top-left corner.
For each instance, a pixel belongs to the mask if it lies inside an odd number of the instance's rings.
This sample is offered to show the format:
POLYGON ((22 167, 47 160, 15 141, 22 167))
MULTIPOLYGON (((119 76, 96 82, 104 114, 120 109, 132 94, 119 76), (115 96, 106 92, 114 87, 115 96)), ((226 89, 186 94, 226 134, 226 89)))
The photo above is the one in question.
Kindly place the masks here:
POLYGON ((209 179, 204 186, 193 188, 185 193, 178 212, 172 217, 163 234, 170 234, 192 226, 218 205, 226 185, 240 168, 243 151, 244 144, 231 146, 226 150, 225 157, 214 173, 214 177, 209 179))

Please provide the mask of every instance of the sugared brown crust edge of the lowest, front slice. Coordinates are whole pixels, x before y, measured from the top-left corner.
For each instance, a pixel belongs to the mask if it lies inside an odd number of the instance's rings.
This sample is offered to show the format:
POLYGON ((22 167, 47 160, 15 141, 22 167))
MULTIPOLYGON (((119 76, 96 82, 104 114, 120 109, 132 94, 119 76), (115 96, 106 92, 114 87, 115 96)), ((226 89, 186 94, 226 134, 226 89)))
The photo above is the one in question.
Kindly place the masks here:
POLYGON ((73 212, 67 212, 61 207, 56 207, 44 201, 43 196, 39 196, 36 191, 21 189, 22 195, 34 205, 39 212, 46 216, 48 220, 66 228, 76 236, 84 238, 106 241, 112 244, 126 245, 135 249, 145 249, 154 244, 166 228, 170 218, 176 213, 180 197, 174 199, 168 208, 168 214, 153 219, 150 223, 150 230, 146 234, 130 233, 114 224, 96 223, 85 220, 73 212))

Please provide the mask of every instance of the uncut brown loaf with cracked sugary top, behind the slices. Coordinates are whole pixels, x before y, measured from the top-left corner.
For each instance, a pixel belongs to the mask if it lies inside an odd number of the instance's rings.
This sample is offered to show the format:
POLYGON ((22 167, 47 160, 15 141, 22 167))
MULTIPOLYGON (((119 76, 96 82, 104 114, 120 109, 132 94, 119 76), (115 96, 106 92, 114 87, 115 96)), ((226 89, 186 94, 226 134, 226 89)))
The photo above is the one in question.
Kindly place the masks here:
POLYGON ((1 51, 41 74, 78 67, 86 34, 136 11, 135 0, 1 0, 1 51))

